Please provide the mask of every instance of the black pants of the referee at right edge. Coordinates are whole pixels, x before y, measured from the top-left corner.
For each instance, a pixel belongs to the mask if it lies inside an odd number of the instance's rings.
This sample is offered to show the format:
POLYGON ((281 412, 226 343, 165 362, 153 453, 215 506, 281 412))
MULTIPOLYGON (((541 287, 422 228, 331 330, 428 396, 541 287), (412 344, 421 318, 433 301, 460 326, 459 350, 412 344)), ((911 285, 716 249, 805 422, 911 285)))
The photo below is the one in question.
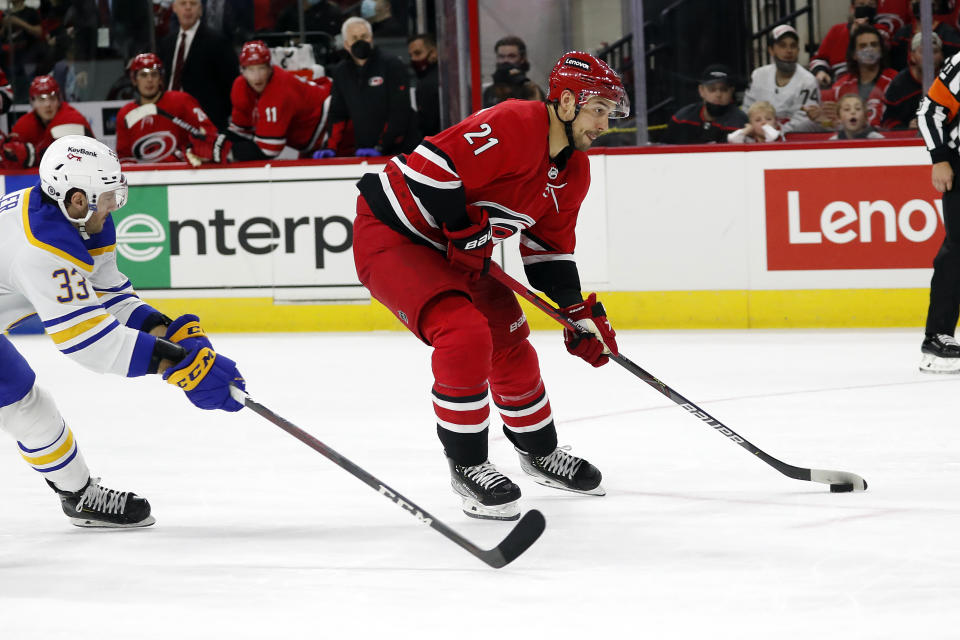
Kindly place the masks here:
POLYGON ((927 335, 953 335, 960 315, 960 160, 952 160, 953 186, 943 194, 946 237, 933 259, 927 335))

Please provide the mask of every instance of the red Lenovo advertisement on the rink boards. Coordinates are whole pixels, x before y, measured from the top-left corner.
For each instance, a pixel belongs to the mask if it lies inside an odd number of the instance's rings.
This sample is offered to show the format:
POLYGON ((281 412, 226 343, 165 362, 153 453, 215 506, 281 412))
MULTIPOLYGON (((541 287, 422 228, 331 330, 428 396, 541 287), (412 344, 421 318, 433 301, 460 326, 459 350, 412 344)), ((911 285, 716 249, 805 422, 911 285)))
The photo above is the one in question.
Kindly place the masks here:
POLYGON ((767 269, 929 268, 943 241, 930 166, 764 171, 767 269))

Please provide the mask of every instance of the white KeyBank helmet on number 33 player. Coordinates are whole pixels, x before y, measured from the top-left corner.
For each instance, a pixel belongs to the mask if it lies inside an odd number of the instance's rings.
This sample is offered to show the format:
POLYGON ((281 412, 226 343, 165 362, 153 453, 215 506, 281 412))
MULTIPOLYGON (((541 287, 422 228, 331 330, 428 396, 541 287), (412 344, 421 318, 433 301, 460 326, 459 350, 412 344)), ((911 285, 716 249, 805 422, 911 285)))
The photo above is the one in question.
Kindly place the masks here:
POLYGON ((40 188, 60 205, 60 211, 81 228, 98 207, 116 211, 127 202, 127 178, 117 154, 87 136, 63 136, 47 147, 40 160, 40 188), (67 215, 64 202, 71 189, 83 191, 90 210, 83 218, 67 215))

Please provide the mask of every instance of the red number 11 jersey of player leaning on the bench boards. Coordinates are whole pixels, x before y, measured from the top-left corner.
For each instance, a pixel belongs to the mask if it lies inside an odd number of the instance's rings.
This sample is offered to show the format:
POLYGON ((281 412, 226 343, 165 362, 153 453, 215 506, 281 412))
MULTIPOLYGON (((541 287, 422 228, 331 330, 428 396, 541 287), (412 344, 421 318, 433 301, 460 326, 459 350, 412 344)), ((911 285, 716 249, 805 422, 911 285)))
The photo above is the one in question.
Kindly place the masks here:
POLYGON ((268 158, 284 146, 314 151, 323 146, 331 88, 329 78, 311 82, 276 65, 260 94, 238 76, 230 91, 230 130, 253 140, 268 158))

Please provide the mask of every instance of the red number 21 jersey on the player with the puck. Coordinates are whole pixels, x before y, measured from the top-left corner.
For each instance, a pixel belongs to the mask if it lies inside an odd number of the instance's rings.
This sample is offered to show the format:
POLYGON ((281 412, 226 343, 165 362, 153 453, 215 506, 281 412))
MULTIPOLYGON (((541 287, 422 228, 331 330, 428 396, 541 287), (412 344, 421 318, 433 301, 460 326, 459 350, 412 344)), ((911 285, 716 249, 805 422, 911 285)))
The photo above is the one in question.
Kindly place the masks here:
POLYGON ((579 151, 566 163, 550 159, 547 109, 542 102, 507 100, 478 111, 357 186, 377 218, 439 251, 447 247, 441 225, 463 228, 480 220, 482 209, 494 242, 520 233, 524 266, 557 266, 569 283, 576 277, 574 229, 590 187, 590 163, 579 151))

